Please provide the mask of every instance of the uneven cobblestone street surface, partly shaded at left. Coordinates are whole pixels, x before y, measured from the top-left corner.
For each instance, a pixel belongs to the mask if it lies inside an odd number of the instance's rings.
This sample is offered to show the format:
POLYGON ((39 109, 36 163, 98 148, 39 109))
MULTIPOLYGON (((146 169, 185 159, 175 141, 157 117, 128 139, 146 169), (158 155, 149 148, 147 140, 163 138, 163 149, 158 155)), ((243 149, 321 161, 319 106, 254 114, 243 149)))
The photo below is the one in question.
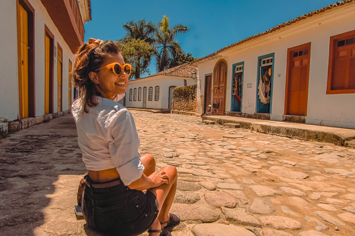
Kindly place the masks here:
MULTIPOLYGON (((355 149, 131 112, 140 152, 178 169, 172 235, 355 235, 355 149)), ((2 140, 1 235, 101 235, 73 213, 80 153, 70 114, 2 140)))

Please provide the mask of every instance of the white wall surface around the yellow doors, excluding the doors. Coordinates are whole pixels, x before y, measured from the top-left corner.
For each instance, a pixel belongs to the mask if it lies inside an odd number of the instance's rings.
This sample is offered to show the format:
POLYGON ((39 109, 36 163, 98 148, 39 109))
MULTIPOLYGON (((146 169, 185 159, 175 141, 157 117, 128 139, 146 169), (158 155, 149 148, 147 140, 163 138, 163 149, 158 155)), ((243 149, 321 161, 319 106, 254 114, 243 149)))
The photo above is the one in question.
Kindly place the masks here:
MULTIPOLYGON (((42 2, 29 0, 29 3, 35 10, 35 114, 36 116, 44 114, 44 24, 54 35, 54 45, 57 47, 59 43, 63 50, 62 110, 65 111, 69 105, 69 59, 73 63, 74 55, 55 27, 42 2)), ((16 1, 2 2, 0 22, 0 117, 15 120, 19 116, 16 1)), ((73 90, 72 85, 72 101, 73 90)), ((55 58, 54 112, 58 111, 57 91, 57 59, 55 58)))

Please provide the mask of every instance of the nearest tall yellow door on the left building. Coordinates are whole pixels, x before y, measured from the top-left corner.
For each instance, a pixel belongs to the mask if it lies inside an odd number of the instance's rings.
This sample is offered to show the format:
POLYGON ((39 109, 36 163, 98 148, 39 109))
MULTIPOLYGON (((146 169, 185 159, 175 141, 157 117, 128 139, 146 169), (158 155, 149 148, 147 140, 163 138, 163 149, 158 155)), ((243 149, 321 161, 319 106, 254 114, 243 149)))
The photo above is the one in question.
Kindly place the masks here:
POLYGON ((28 29, 27 11, 20 5, 22 118, 28 117, 28 29))

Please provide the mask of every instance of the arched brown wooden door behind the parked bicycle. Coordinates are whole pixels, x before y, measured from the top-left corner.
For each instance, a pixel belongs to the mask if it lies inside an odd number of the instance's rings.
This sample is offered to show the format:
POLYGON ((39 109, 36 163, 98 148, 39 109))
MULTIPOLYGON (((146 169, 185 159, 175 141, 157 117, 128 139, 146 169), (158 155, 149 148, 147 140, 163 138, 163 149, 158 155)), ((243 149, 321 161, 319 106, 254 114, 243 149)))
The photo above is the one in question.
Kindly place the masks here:
POLYGON ((221 61, 213 70, 213 103, 219 103, 218 115, 224 115, 227 66, 221 61))

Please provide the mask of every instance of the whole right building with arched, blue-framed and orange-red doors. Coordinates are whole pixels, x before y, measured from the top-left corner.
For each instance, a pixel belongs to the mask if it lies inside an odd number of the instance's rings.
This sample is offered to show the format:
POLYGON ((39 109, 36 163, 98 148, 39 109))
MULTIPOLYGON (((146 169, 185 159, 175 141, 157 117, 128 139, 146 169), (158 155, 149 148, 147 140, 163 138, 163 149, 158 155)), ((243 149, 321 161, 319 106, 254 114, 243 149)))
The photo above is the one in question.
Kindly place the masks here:
POLYGON ((355 128, 354 21, 337 2, 201 58, 199 112, 355 128))

